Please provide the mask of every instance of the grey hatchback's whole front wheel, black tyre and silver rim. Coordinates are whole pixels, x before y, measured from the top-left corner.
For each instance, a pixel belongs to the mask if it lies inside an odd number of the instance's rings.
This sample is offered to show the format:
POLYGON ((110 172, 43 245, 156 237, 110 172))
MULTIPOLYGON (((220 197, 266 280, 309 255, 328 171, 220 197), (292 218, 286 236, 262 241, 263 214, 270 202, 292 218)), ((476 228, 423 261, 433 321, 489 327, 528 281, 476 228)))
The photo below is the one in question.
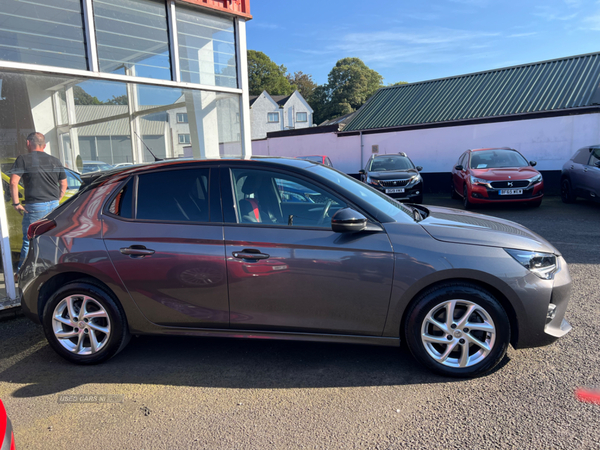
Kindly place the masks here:
POLYGON ((451 377, 490 372, 510 342, 510 322, 498 300, 468 283, 447 283, 423 293, 407 311, 403 329, 413 356, 451 377))

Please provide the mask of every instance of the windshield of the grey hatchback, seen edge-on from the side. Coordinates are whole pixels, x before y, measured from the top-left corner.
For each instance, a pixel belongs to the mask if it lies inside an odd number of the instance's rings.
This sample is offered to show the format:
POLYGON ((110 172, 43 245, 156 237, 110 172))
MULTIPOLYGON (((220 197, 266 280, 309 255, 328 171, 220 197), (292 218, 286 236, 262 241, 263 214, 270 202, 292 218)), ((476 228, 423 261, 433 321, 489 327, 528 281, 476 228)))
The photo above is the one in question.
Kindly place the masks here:
POLYGON ((333 181, 342 189, 350 191, 354 195, 359 196, 364 201, 379 209, 383 214, 387 215, 388 217, 392 217, 394 220, 406 221, 407 216, 411 220, 413 218, 412 209, 410 209, 408 206, 397 202, 393 198, 380 193, 378 190, 368 186, 365 183, 361 183, 349 175, 323 165, 315 165, 315 167, 311 168, 310 170, 324 178, 327 178, 328 180, 333 181))

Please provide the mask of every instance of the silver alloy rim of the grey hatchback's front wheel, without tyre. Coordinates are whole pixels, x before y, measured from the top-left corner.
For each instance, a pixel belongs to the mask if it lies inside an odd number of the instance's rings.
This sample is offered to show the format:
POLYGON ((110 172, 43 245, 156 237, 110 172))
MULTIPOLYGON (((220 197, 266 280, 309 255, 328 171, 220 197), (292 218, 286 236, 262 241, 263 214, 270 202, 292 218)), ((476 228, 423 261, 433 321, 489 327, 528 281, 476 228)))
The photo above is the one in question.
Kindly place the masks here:
POLYGON ((489 313, 468 300, 449 300, 427 313, 421 342, 438 363, 455 368, 483 361, 494 348, 496 327, 489 313))

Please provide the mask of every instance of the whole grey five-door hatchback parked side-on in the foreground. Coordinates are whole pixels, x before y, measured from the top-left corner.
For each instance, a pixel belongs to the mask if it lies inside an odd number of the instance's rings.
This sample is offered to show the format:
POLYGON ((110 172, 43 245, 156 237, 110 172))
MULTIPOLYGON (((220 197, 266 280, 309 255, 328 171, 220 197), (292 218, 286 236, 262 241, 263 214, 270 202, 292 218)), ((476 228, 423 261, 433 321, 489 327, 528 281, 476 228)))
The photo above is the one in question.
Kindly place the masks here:
POLYGON ((28 234, 23 309, 75 363, 132 334, 405 340, 469 377, 571 328, 567 264, 540 236, 299 159, 114 169, 28 234))

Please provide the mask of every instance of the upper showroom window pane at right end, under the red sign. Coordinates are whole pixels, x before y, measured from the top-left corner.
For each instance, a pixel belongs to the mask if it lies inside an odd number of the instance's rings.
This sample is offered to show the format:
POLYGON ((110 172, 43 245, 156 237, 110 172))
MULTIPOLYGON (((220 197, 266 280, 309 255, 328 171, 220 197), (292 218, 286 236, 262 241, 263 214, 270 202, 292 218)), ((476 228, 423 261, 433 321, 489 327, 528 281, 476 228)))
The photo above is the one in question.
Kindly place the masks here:
POLYGON ((181 81, 238 87, 233 19, 177 8, 181 81))

